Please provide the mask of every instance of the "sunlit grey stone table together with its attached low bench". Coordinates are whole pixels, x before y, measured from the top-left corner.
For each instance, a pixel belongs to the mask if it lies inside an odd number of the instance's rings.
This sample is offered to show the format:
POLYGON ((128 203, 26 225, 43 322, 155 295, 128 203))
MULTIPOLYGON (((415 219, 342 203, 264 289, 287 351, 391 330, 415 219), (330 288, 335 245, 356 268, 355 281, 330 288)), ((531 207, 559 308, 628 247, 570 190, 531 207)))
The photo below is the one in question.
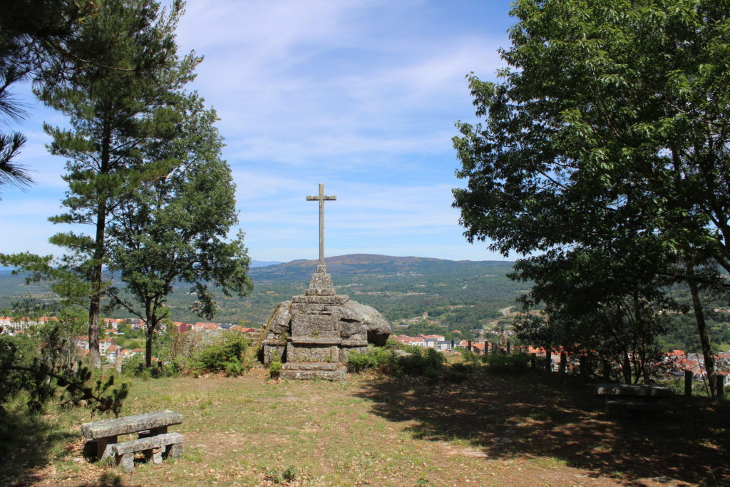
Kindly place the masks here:
POLYGON ((96 442, 96 459, 112 455, 122 463, 126 471, 134 469, 134 453, 142 451, 154 464, 161 461, 163 450, 166 455, 177 458, 183 454, 183 435, 168 433, 167 427, 183 422, 183 415, 171 410, 137 414, 124 418, 107 419, 83 423, 81 432, 89 442, 96 442), (119 443, 121 434, 138 434, 137 440, 119 443))

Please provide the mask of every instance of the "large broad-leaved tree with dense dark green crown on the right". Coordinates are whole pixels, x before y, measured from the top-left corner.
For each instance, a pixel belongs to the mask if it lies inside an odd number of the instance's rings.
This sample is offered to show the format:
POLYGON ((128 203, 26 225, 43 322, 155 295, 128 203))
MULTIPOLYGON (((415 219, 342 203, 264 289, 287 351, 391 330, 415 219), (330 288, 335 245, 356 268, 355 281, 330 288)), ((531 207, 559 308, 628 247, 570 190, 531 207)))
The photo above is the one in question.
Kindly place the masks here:
MULTIPOLYGON (((485 125, 459 123, 466 237, 505 255, 629 256, 642 285, 730 271, 730 2, 518 0, 500 83, 469 77, 485 125)), ((526 265, 537 261, 526 258, 526 265)), ((619 281, 620 282, 620 281, 619 281)), ((631 296, 631 288, 616 290, 631 296)))

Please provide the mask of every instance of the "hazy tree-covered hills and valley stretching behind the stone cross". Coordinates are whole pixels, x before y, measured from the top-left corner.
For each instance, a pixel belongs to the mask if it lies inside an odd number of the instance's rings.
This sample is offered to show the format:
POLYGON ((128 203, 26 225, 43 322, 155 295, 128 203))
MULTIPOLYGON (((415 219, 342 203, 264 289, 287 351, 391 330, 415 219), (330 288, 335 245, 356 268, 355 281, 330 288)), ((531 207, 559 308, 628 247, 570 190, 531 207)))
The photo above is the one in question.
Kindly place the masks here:
MULTIPOLYGON (((245 298, 220 296, 215 319, 265 322, 279 302, 304 292, 317 264, 302 259, 252 267, 253 292, 245 298)), ((515 304, 515 298, 529 289, 529 284, 507 278, 513 263, 505 261, 351 254, 328 257, 326 264, 339 294, 375 307, 393 323, 420 319, 450 329, 477 328, 498 317, 500 308, 515 304)), ((201 321, 190 311, 194 296, 188 291, 187 285, 180 285, 169 298, 174 321, 201 321)), ((26 286, 22 276, 0 272, 0 309, 29 294, 47 298, 43 293, 41 288, 26 286)), ((122 310, 115 315, 131 317, 122 310)))

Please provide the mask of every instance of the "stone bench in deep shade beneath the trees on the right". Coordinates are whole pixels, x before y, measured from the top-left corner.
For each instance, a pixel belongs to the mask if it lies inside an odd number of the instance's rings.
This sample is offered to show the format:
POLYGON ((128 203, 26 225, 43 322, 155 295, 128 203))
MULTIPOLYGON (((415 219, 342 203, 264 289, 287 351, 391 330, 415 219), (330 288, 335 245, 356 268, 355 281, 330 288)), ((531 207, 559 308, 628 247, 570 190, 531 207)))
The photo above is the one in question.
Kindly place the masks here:
POLYGON ((607 414, 615 410, 629 415, 631 411, 661 413, 669 409, 669 404, 661 400, 671 397, 672 390, 666 386, 609 383, 596 386, 596 394, 604 397, 607 414))

